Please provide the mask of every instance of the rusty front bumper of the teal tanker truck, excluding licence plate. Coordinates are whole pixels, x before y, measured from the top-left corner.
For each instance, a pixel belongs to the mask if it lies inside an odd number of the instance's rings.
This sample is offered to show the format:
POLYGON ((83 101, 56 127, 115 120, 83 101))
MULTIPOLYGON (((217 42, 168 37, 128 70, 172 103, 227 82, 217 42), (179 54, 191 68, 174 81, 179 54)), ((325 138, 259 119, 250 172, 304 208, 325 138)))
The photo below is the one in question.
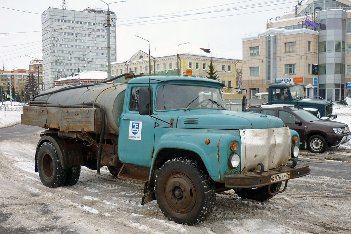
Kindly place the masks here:
POLYGON ((291 168, 289 166, 279 166, 274 169, 270 169, 267 172, 244 172, 241 174, 232 174, 225 176, 225 187, 226 188, 256 188, 265 185, 270 185, 275 182, 271 182, 271 176, 280 173, 290 172, 290 178, 295 179, 310 174, 311 169, 307 164, 296 166, 291 168))

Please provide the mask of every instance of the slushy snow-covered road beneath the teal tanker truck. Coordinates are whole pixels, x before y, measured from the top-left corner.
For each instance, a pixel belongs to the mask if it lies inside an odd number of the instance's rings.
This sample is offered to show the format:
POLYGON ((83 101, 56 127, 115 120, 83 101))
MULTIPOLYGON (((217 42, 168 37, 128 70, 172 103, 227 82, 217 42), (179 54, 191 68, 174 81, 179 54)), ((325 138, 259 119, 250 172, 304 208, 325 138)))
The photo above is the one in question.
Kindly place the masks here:
MULTIPOLYGON (((350 114, 340 113, 337 120, 350 125, 350 114)), ((323 154, 301 151, 299 163, 309 163, 311 174, 271 200, 221 192, 207 220, 186 226, 168 221, 155 201, 141 206, 143 185, 106 168, 97 175, 82 167, 71 187, 43 186, 34 172, 40 131, 0 140, 0 234, 351 233, 350 143, 323 154)))

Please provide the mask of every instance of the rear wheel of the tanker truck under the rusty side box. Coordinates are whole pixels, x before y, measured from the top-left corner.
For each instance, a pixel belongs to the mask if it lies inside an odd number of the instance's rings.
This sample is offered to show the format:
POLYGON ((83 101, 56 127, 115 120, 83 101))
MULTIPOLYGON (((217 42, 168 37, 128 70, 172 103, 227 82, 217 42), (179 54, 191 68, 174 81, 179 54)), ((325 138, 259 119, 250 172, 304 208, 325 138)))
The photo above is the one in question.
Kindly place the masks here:
POLYGON ((64 185, 67 169, 62 169, 55 146, 44 142, 38 150, 38 172, 43 185, 57 188, 64 185))

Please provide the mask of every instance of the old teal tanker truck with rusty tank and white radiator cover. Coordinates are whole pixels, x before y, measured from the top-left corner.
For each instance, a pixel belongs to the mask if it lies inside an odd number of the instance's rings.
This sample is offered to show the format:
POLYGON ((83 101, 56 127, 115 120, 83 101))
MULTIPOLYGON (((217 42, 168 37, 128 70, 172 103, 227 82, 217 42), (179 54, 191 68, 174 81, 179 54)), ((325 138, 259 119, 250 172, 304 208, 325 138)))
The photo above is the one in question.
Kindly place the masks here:
POLYGON ((216 192, 265 201, 310 173, 297 165, 297 132, 273 116, 227 110, 222 88, 205 78, 141 76, 44 91, 21 119, 45 128, 35 171, 54 188, 77 183, 81 166, 107 166, 144 184, 142 204, 156 199, 169 220, 187 225, 211 214, 216 192))

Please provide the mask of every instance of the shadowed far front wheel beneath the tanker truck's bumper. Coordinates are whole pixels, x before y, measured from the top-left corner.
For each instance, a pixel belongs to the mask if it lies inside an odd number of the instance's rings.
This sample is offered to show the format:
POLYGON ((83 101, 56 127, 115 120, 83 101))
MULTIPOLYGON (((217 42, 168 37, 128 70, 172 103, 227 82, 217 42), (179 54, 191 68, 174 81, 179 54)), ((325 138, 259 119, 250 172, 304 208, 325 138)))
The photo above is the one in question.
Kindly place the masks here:
MULTIPOLYGON (((271 185, 271 193, 278 192, 282 182, 271 185)), ((266 201, 273 198, 274 195, 268 193, 268 185, 259 188, 237 188, 235 193, 242 199, 252 199, 255 201, 266 201)))

